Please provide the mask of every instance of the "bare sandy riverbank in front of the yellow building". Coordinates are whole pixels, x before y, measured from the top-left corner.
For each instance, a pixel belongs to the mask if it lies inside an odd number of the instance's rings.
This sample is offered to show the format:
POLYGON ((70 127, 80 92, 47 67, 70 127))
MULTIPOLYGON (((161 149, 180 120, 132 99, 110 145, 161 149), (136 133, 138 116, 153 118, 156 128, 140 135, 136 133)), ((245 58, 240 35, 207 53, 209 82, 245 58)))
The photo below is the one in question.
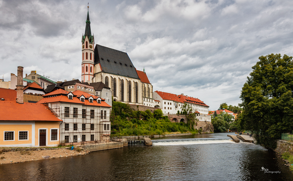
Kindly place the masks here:
POLYGON ((90 152, 82 147, 68 148, 0 148, 0 164, 22 163, 43 159, 86 155, 90 152))

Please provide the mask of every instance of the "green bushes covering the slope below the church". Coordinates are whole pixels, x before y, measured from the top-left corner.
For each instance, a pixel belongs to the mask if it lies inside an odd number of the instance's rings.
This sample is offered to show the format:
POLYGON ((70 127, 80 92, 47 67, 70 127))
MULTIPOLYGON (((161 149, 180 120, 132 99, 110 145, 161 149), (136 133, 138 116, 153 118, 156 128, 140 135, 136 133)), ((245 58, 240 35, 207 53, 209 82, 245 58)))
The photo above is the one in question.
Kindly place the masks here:
POLYGON ((164 135, 168 133, 192 133, 199 131, 193 127, 189 129, 184 122, 170 122, 168 116, 157 109, 152 113, 150 110, 135 111, 129 105, 112 102, 111 137, 115 136, 139 136, 139 135, 164 135))

